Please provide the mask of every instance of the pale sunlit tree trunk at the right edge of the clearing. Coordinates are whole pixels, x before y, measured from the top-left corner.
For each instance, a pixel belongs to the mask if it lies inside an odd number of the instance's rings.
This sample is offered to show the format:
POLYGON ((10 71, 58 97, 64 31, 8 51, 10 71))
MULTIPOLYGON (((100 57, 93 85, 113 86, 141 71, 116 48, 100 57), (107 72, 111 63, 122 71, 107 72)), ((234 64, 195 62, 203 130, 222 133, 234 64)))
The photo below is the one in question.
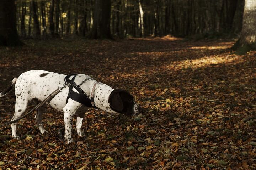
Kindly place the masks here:
POLYGON ((256 47, 256 1, 245 0, 242 32, 239 43, 241 46, 256 47))

